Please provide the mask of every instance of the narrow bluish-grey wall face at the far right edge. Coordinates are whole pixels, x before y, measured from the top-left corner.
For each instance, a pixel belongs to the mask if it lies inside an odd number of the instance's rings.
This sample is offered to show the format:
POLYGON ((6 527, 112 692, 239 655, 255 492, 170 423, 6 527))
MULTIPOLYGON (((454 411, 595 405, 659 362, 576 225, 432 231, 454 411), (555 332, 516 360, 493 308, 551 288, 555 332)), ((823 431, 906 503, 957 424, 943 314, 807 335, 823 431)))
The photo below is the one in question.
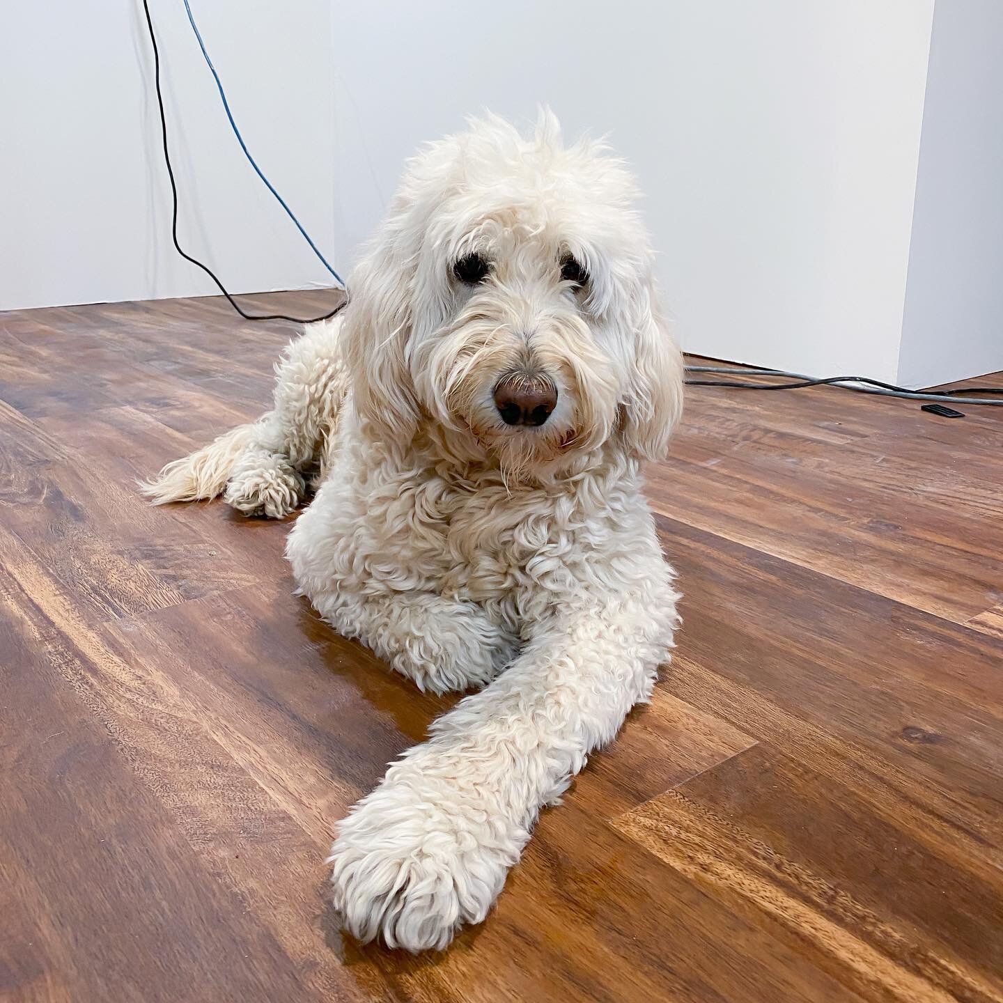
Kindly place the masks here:
POLYGON ((1003 369, 1003 4, 934 14, 899 379, 1003 369))

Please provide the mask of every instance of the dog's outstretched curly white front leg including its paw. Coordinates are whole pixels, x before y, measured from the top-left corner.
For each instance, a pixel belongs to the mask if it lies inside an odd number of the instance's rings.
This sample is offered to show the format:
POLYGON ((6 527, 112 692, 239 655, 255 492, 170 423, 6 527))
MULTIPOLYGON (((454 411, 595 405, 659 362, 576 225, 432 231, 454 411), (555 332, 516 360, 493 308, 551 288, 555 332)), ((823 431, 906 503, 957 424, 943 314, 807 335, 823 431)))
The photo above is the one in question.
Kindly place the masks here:
POLYGON ((341 824, 331 863, 346 929, 420 951, 483 920, 541 807, 651 693, 674 625, 668 589, 556 616, 436 721, 341 824))

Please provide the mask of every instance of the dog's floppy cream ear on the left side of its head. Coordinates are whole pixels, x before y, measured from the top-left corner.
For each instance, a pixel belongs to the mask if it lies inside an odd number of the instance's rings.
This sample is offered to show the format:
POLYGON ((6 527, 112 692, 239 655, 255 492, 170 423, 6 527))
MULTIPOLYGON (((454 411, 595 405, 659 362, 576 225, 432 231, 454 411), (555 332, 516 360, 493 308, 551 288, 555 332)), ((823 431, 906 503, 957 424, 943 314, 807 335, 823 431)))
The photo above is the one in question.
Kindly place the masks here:
POLYGON ((391 214, 352 273, 342 343, 356 411, 388 441, 408 442, 418 419, 404 358, 413 269, 399 260, 398 240, 391 214))

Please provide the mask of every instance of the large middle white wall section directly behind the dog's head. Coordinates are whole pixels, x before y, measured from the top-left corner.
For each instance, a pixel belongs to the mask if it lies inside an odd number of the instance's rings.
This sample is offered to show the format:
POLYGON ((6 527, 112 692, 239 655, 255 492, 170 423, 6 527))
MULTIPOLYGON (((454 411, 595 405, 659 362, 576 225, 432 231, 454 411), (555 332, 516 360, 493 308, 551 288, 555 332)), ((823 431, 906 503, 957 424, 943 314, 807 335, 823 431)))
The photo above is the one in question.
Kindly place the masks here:
POLYGON ((339 6, 335 247, 422 139, 487 106, 609 132, 635 165, 685 346, 898 367, 933 0, 339 6))

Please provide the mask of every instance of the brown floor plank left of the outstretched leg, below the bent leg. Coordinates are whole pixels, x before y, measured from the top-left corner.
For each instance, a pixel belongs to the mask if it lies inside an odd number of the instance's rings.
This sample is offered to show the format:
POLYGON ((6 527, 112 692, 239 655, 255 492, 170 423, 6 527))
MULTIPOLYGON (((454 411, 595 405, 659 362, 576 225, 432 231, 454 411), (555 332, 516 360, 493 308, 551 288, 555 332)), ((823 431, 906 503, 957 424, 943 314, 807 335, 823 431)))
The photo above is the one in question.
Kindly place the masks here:
POLYGON ((319 855, 334 823, 451 701, 422 696, 404 706, 406 681, 304 605, 279 580, 108 624, 104 633, 124 661, 186 694, 191 714, 319 855))

